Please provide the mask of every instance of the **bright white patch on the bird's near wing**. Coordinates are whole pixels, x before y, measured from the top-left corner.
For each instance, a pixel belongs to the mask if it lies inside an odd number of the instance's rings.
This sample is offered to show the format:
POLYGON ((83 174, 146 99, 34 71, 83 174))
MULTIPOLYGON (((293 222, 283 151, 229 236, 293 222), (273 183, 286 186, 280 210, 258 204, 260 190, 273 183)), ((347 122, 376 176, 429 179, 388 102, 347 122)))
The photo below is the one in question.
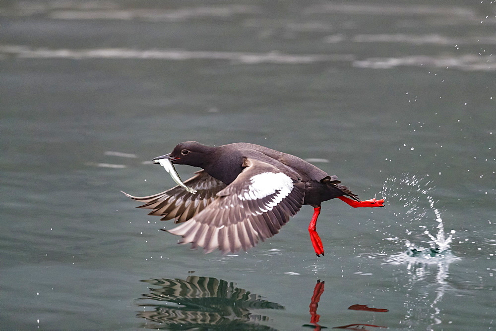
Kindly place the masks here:
POLYGON ((282 172, 259 173, 251 177, 250 181, 248 191, 238 195, 240 200, 263 199, 277 192, 276 196, 264 204, 265 209, 260 208, 263 213, 272 210, 274 206, 291 193, 294 187, 293 180, 282 172))

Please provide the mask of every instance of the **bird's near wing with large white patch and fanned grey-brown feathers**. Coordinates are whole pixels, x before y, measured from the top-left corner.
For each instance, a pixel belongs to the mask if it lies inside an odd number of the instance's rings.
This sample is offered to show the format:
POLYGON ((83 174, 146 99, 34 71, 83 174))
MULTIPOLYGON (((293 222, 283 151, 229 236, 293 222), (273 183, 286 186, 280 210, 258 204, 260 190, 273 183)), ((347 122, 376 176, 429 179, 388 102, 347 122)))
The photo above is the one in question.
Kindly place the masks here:
POLYGON ((243 172, 217 199, 168 232, 205 253, 248 250, 272 237, 302 207, 305 184, 292 169, 247 158, 243 172))

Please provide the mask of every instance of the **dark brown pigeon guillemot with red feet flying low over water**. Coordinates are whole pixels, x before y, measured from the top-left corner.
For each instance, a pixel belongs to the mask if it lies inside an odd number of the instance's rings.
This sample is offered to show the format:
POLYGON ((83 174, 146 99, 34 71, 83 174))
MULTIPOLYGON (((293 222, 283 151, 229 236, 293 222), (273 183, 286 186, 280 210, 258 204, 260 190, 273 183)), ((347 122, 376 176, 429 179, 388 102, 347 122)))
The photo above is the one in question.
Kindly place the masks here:
POLYGON ((167 232, 181 235, 180 243, 203 247, 205 253, 216 248, 223 253, 246 251, 278 233, 303 205, 310 205, 310 239, 315 254, 324 255, 316 232, 323 201, 338 198, 352 207, 384 206, 384 199, 360 201, 337 176, 294 155, 259 145, 211 147, 187 141, 154 162, 166 158, 173 164, 202 168, 184 182, 196 193, 181 186, 146 197, 123 193, 145 203, 139 208, 152 209, 148 215, 182 223, 167 232))

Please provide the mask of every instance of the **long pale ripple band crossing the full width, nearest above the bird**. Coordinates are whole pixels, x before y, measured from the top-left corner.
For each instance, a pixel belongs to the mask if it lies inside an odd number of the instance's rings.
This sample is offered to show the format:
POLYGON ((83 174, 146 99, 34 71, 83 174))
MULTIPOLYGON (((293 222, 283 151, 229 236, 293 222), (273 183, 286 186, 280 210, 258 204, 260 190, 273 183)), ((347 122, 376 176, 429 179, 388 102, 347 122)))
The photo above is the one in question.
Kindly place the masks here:
MULTIPOLYGON (((495 41, 496 42, 496 41, 495 41)), ((284 54, 279 52, 250 53, 224 51, 186 51, 177 49, 137 50, 128 48, 101 49, 48 49, 20 45, 0 45, 0 60, 14 56, 18 58, 69 58, 83 59, 142 59, 186 61, 194 59, 228 60, 242 64, 309 64, 319 62, 349 62, 357 68, 391 69, 398 66, 422 66, 434 68, 455 68, 473 71, 495 71, 496 56, 460 55, 404 57, 371 57, 356 60, 352 54, 284 54)))

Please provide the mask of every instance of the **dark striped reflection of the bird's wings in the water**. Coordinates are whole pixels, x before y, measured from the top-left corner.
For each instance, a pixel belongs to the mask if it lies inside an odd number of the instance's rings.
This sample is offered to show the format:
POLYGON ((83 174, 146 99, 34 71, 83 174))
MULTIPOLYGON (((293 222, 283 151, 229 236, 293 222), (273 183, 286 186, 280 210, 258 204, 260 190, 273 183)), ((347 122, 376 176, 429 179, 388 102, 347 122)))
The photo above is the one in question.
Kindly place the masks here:
POLYGON ((260 324, 268 317, 252 314, 251 310, 284 309, 232 282, 212 277, 142 281, 153 287, 136 300, 145 309, 136 316, 149 321, 142 326, 149 329, 274 330, 260 324))

